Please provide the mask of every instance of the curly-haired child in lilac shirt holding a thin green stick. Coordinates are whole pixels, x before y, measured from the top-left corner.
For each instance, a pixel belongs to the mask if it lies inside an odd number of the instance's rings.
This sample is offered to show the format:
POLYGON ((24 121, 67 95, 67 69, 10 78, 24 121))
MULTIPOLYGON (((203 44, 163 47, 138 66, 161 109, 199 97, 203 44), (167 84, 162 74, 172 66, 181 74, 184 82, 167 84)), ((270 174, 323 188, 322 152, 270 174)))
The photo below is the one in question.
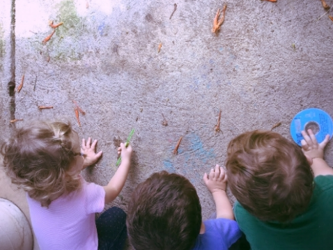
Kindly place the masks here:
POLYGON ((95 163, 91 143, 69 123, 34 121, 15 129, 1 144, 3 166, 13 183, 26 191, 31 224, 40 249, 123 249, 126 214, 121 208, 95 212, 114 201, 125 185, 132 147, 121 143, 122 162, 109 184, 88 183, 80 171, 95 163))

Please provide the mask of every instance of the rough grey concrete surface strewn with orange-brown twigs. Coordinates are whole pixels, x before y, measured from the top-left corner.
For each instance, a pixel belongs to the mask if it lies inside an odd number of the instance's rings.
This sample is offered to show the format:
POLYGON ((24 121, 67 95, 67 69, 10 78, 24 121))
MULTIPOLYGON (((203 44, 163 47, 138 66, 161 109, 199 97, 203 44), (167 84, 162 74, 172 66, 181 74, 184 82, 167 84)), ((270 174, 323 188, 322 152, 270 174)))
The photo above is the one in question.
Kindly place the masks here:
MULTIPOLYGON (((234 136, 281 122, 275 131, 291 139, 291 119, 302 109, 333 116, 333 22, 321 17, 319 0, 184 0, 170 19, 174 3, 16 0, 15 58, 6 57, 7 45, 1 50, 1 125, 8 127, 6 67, 14 61, 16 85, 25 75, 15 94, 15 118, 65 117, 80 136, 98 139, 103 157, 84 171, 86 180, 107 184, 116 171, 116 147, 135 128, 132 169, 111 205, 126 209, 139 182, 166 170, 195 185, 206 219, 215 205, 202 175, 224 164, 234 136), (224 3, 225 21, 215 36, 212 20, 224 3), (52 32, 49 19, 64 24, 42 45, 52 32), (72 100, 86 111, 82 127, 72 100), (39 105, 54 109, 38 111, 39 105)), ((1 27, 7 25, 2 41, 9 39, 8 18, 1 15, 1 27)), ((330 166, 332 148, 329 143, 325 154, 330 166)))

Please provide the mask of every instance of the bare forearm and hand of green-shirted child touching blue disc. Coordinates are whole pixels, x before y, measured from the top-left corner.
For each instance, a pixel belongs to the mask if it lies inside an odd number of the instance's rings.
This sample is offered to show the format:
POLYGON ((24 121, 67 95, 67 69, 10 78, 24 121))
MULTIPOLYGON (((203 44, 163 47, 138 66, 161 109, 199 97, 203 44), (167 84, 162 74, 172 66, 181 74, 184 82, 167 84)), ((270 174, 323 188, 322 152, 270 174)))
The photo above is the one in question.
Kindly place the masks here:
POLYGON ((312 130, 308 130, 308 133, 309 135, 307 132, 302 131, 304 139, 301 144, 304 155, 311 164, 314 177, 318 175, 333 175, 333 169, 324 160, 324 148, 330 141, 330 135, 327 134, 325 140, 322 143, 318 143, 312 130))

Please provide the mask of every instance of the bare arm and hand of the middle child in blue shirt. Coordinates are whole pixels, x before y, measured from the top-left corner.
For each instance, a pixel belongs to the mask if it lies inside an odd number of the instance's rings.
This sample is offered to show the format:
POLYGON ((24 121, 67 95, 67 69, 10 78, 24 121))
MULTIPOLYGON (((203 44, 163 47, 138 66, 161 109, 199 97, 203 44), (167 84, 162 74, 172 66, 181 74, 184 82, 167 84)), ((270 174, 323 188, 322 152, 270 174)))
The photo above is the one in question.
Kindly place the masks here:
POLYGON ((216 205, 216 217, 225 219, 235 219, 233 217, 233 208, 226 196, 226 173, 219 165, 215 166, 215 170, 211 169, 209 175, 203 175, 203 181, 206 183, 212 198, 216 205))

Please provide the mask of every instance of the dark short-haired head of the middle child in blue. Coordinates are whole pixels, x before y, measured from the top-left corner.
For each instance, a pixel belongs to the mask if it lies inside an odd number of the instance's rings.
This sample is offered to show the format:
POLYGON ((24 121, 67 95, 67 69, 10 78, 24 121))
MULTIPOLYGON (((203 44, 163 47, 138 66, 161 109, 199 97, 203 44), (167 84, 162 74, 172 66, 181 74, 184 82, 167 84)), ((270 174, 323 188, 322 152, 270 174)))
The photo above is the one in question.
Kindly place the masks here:
POLYGON ((134 190, 127 231, 136 250, 187 250, 201 227, 201 205, 191 182, 176 173, 153 173, 134 190))

